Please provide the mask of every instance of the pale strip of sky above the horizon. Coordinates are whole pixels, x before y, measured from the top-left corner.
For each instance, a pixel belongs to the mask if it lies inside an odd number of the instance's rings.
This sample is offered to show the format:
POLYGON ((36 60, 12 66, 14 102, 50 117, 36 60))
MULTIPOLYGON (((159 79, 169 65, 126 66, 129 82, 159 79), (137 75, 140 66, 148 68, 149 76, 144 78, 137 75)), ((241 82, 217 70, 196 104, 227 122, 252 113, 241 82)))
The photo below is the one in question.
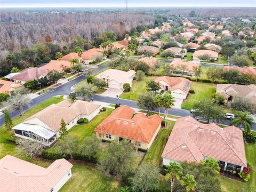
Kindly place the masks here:
MULTIPOLYGON (((127 0, 128 7, 255 7, 256 0, 127 0)), ((125 7, 125 0, 1 0, 1 7, 125 7)))

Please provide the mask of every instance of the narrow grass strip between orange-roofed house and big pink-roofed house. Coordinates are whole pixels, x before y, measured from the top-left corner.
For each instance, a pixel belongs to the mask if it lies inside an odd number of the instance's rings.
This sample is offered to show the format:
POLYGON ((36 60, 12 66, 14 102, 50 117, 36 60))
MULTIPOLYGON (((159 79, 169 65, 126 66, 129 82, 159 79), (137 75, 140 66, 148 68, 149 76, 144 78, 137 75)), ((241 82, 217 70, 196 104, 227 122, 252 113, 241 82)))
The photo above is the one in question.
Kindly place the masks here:
POLYGON ((162 161, 161 156, 167 142, 166 138, 170 135, 174 123, 175 122, 173 121, 168 121, 168 128, 160 129, 157 139, 152 143, 143 160, 144 163, 151 163, 155 166, 159 166, 162 161))

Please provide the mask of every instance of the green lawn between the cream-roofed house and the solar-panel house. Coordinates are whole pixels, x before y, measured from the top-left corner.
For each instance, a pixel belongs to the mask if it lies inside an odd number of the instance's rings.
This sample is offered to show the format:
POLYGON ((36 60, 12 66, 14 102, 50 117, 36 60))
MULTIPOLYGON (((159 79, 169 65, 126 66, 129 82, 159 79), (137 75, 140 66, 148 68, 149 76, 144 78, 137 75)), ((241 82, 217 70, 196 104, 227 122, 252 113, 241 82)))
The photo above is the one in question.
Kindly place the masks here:
POLYGON ((134 80, 132 81, 132 89, 130 92, 123 93, 119 96, 122 99, 130 99, 130 100, 137 100, 139 94, 146 92, 146 82, 150 80, 155 80, 156 77, 154 76, 145 76, 142 81, 134 80))

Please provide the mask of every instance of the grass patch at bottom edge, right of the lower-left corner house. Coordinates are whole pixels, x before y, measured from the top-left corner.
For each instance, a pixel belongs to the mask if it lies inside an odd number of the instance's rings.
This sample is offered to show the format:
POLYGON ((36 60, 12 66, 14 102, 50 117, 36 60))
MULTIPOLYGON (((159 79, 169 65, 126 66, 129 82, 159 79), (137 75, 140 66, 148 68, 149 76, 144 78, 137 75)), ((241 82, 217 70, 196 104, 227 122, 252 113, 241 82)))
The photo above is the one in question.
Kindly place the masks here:
POLYGON ((102 175, 101 172, 92 167, 73 164, 72 177, 60 189, 60 191, 120 191, 121 185, 115 179, 102 175))

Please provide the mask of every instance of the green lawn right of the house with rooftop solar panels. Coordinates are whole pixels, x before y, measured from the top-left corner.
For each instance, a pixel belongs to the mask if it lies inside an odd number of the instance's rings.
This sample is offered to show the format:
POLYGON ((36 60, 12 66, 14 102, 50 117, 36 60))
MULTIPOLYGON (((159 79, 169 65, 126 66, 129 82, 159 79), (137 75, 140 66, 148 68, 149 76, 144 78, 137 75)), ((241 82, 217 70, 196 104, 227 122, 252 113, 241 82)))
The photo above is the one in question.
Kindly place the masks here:
POLYGON ((212 83, 192 82, 191 89, 195 90, 195 94, 190 94, 188 99, 182 103, 182 109, 192 109, 193 105, 203 98, 212 98, 216 92, 216 85, 212 83))

